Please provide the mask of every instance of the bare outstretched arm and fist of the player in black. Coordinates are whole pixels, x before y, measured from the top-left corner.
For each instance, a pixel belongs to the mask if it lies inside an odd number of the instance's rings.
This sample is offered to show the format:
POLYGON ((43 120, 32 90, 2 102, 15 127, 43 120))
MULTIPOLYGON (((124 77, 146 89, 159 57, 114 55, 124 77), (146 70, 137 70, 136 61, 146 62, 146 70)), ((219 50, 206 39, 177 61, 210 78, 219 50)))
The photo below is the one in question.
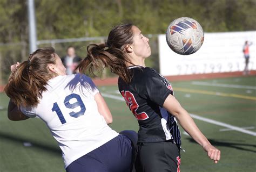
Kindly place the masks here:
POLYGON ((177 99, 172 95, 169 95, 165 99, 163 107, 177 118, 179 124, 184 128, 184 130, 204 148, 208 157, 210 157, 214 163, 218 163, 220 160, 220 150, 210 144, 204 134, 201 133, 196 123, 194 123, 190 114, 181 107, 177 99))

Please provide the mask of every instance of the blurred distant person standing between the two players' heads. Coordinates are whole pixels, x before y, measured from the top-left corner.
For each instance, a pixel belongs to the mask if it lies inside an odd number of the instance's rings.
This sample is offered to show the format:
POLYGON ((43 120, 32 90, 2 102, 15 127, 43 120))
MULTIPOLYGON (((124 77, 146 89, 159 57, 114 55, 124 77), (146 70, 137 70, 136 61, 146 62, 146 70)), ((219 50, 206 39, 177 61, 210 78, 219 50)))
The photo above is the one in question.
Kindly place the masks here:
POLYGON ((66 56, 62 58, 62 63, 66 68, 66 74, 67 75, 75 74, 76 73, 75 69, 81 60, 82 59, 76 55, 75 47, 69 46, 66 49, 66 56))

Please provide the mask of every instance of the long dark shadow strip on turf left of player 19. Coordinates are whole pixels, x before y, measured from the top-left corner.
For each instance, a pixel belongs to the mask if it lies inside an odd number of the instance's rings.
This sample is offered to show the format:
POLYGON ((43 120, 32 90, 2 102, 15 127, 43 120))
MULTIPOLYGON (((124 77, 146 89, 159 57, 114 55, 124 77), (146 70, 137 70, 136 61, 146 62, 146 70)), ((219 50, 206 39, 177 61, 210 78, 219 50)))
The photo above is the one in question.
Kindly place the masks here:
POLYGON ((21 138, 18 136, 0 132, 0 140, 3 140, 3 139, 13 141, 13 142, 18 142, 21 144, 21 146, 23 145, 24 142, 30 142, 32 144, 31 148, 37 148, 37 149, 41 149, 44 151, 48 151, 48 152, 56 154, 58 156, 60 156, 62 154, 62 151, 56 147, 52 147, 50 145, 44 145, 44 143, 41 144, 36 141, 32 141, 29 139, 24 139, 24 138, 21 138))

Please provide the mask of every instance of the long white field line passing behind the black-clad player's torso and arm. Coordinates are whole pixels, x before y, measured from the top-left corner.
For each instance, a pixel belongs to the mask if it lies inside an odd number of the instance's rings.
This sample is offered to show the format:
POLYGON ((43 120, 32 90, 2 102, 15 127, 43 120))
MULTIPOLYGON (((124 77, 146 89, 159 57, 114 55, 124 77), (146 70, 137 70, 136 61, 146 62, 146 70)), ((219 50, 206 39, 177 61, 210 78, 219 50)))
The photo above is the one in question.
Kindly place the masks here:
MULTIPOLYGON (((105 94, 105 93, 102 93, 102 96, 107 97, 107 98, 117 99, 119 101, 124 102, 124 98, 120 97, 120 96, 115 96, 115 95, 105 94)), ((248 130, 245 130, 244 128, 241 128, 241 127, 233 126, 233 125, 230 125, 230 124, 226 124, 226 123, 223 123, 223 122, 220 122, 220 121, 217 121, 217 120, 213 120, 213 119, 209 119, 209 118, 205 118, 205 117, 200 117, 197 114, 191 114, 190 113, 190 115, 191 115, 192 118, 198 119, 198 120, 201 120, 201 121, 205 121, 206 123, 223 126, 225 128, 229 128, 229 129, 234 130, 234 131, 238 131, 238 132, 241 132, 241 133, 256 136, 256 132, 248 131, 248 130)))

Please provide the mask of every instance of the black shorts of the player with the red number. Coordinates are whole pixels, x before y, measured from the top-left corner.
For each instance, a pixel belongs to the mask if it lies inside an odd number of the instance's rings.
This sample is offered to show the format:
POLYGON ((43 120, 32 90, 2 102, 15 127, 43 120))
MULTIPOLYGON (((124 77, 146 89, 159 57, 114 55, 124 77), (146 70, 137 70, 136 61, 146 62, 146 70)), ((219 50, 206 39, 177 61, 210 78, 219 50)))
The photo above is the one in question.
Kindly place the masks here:
POLYGON ((180 171, 180 148, 171 141, 138 143, 136 171, 180 171))

